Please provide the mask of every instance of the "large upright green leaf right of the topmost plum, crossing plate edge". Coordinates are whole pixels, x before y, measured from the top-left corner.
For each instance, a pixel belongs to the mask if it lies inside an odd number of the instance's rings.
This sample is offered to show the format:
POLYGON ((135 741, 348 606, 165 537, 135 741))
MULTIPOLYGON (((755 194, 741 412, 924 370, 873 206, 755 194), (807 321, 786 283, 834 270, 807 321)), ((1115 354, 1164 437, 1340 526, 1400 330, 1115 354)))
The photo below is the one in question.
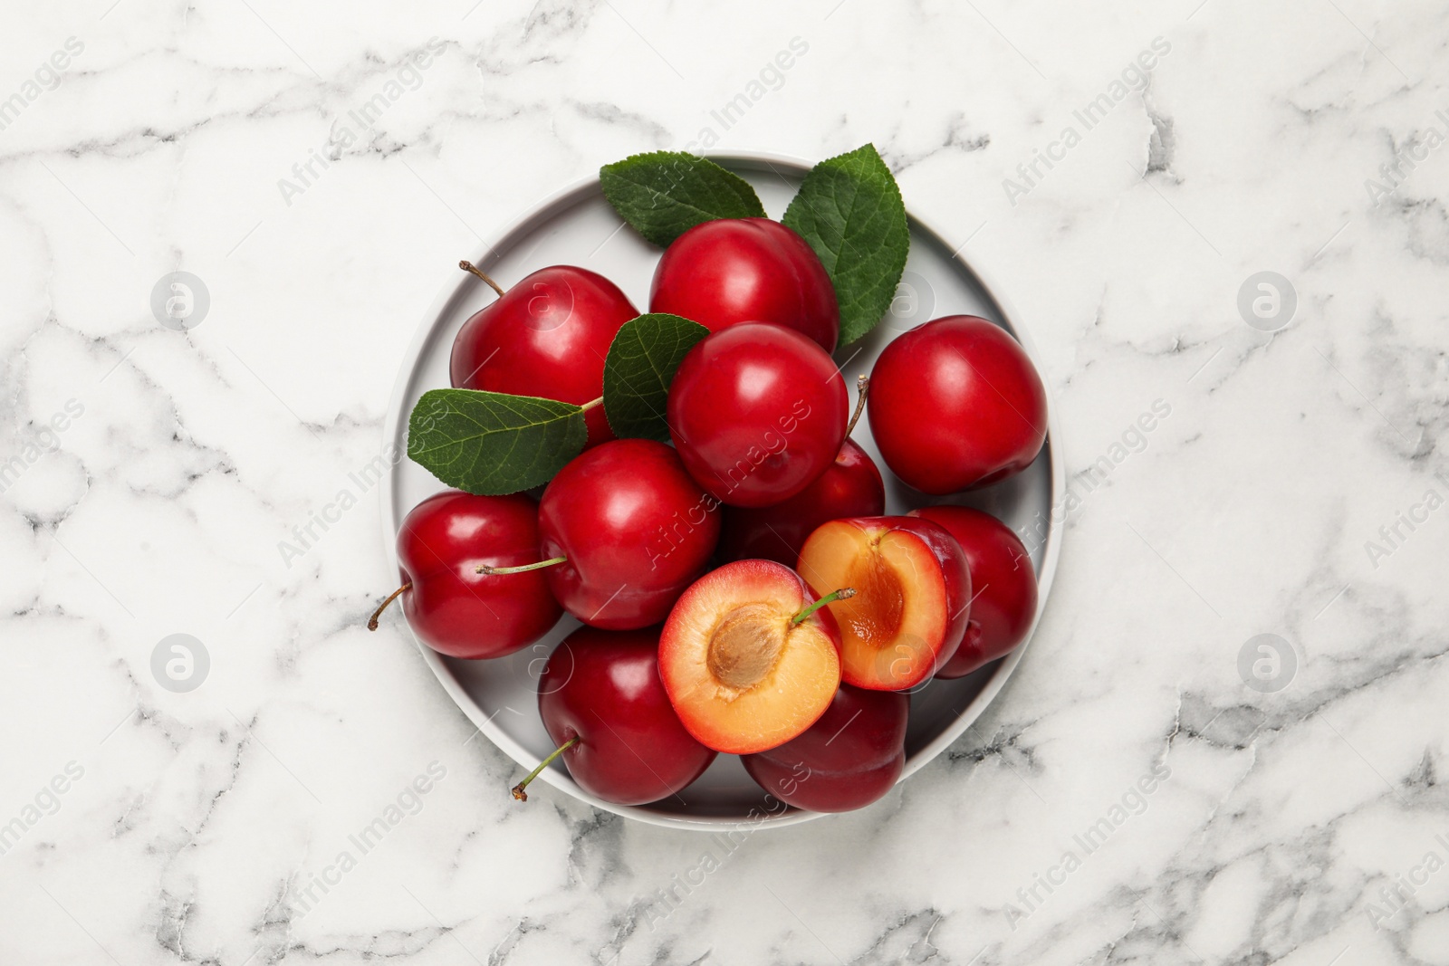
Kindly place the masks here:
POLYGON ((874 329, 910 252, 906 203, 875 145, 811 168, 781 222, 810 242, 835 282, 840 345, 874 329))

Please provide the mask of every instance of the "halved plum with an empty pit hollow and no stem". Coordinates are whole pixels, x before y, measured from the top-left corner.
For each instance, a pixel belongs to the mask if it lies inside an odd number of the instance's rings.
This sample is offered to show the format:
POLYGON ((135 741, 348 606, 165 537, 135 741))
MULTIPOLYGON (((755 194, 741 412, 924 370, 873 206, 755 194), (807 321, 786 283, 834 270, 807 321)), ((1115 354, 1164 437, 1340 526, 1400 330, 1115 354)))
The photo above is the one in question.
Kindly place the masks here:
POLYGON ((855 588, 853 597, 829 604, 840 626, 846 684, 914 688, 961 646, 971 574, 961 545, 930 520, 832 520, 806 540, 797 569, 814 591, 855 588))

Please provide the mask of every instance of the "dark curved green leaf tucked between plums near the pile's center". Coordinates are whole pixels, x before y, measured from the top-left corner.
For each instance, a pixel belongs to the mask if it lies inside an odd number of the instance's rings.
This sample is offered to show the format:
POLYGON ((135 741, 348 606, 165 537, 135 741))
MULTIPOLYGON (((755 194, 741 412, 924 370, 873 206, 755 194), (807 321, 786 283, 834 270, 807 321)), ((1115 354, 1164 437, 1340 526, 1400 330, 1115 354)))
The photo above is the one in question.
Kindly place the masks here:
POLYGON ((614 436, 669 442, 664 420, 669 382, 707 335, 700 323, 662 311, 623 324, 604 361, 604 416, 614 436))

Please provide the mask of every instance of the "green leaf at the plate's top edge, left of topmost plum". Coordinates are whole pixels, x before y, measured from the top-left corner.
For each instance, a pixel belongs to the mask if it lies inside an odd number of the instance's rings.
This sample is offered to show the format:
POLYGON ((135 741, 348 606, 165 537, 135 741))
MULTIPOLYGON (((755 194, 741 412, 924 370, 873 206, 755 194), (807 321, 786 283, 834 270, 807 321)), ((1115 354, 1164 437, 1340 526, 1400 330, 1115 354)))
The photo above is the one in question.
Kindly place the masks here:
POLYGON ((614 210, 661 248, 704 222, 765 217, 765 206, 748 181, 684 151, 606 164, 598 184, 614 210))

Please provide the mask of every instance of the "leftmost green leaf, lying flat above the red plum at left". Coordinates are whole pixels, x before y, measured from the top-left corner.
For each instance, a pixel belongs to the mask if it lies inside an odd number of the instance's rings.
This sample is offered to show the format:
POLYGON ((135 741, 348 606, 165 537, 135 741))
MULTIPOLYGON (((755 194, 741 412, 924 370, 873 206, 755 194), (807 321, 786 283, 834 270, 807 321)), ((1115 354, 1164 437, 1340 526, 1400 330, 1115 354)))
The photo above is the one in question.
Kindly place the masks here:
POLYGON ((483 390, 429 390, 407 419, 407 455, 449 487, 501 495, 546 484, 584 450, 572 403, 483 390))

